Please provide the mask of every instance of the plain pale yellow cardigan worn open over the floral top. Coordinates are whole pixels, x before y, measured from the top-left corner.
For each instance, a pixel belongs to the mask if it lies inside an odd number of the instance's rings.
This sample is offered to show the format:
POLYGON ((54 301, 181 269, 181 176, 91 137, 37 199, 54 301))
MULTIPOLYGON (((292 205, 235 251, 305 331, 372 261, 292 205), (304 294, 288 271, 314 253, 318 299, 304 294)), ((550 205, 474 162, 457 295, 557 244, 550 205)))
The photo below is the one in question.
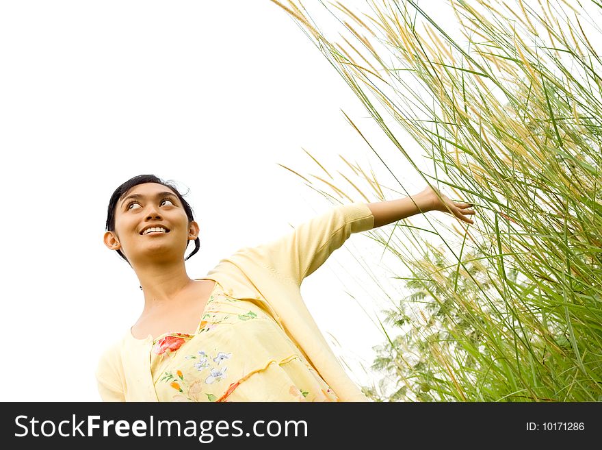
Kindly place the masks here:
MULTIPOLYGON (((332 353, 306 308, 300 286, 352 233, 373 227, 374 216, 366 203, 336 206, 280 238, 239 249, 204 277, 220 283, 231 297, 263 303, 341 401, 368 399, 332 353)), ((96 368, 103 401, 157 401, 148 361, 152 345, 151 340, 126 335, 103 353, 96 368), (148 346, 148 351, 133 345, 148 346)))

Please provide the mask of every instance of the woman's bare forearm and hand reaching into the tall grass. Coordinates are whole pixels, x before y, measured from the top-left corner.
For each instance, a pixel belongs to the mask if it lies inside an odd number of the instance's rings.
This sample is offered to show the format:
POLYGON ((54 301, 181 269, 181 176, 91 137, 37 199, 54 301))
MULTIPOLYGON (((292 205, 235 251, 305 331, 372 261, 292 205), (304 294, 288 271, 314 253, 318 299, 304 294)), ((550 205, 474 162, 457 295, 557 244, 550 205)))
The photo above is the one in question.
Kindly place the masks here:
POLYGON ((374 216, 374 228, 401 221, 419 212, 429 211, 447 212, 461 221, 474 223, 468 217, 469 214, 475 214, 470 203, 451 201, 446 195, 430 186, 427 186, 426 189, 416 195, 410 195, 410 197, 403 199, 366 204, 374 216))

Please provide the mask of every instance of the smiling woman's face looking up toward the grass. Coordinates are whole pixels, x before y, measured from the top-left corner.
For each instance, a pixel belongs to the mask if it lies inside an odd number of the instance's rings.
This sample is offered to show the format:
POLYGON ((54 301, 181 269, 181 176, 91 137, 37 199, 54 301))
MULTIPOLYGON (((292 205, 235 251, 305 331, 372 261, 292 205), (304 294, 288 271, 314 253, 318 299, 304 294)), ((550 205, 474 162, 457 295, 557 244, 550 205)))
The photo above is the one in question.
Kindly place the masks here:
POLYGON ((120 249, 129 262, 183 260, 188 240, 198 236, 188 223, 181 201, 167 186, 144 183, 117 201, 115 232, 105 233, 105 245, 120 249))

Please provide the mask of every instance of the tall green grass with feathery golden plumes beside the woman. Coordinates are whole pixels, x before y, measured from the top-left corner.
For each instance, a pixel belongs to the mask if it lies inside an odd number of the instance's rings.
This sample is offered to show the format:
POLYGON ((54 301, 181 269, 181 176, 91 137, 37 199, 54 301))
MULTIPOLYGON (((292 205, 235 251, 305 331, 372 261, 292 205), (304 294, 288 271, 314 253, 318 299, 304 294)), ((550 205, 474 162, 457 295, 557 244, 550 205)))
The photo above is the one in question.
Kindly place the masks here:
MULTIPOLYGON (((369 232, 400 263, 395 278, 408 295, 384 312, 392 331, 382 328, 374 362, 396 382, 365 392, 379 401, 602 401, 602 60, 592 45, 602 5, 447 1, 457 24, 446 30, 426 10, 432 3, 367 1, 361 14, 319 3, 346 34, 329 42, 312 26, 308 37, 404 162, 477 210, 472 227, 432 213, 421 216, 428 225, 412 218, 369 232)), ((307 8, 284 9, 313 22, 307 8)), ((347 118, 409 195, 395 176, 408 167, 383 160, 347 118)), ((339 172, 338 187, 316 178, 339 199, 395 192, 374 171, 347 166, 354 173, 339 172)))

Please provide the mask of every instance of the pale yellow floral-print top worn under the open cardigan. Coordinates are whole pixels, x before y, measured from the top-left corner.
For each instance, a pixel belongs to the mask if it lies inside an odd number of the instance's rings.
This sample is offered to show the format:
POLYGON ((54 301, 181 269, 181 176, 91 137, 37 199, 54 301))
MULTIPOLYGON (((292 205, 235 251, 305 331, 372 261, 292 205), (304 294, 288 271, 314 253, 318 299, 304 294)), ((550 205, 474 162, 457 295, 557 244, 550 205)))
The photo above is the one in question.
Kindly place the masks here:
POLYGON ((151 349, 157 399, 339 401, 260 305, 228 296, 215 282, 194 334, 162 334, 152 347, 141 346, 140 351, 151 349))

